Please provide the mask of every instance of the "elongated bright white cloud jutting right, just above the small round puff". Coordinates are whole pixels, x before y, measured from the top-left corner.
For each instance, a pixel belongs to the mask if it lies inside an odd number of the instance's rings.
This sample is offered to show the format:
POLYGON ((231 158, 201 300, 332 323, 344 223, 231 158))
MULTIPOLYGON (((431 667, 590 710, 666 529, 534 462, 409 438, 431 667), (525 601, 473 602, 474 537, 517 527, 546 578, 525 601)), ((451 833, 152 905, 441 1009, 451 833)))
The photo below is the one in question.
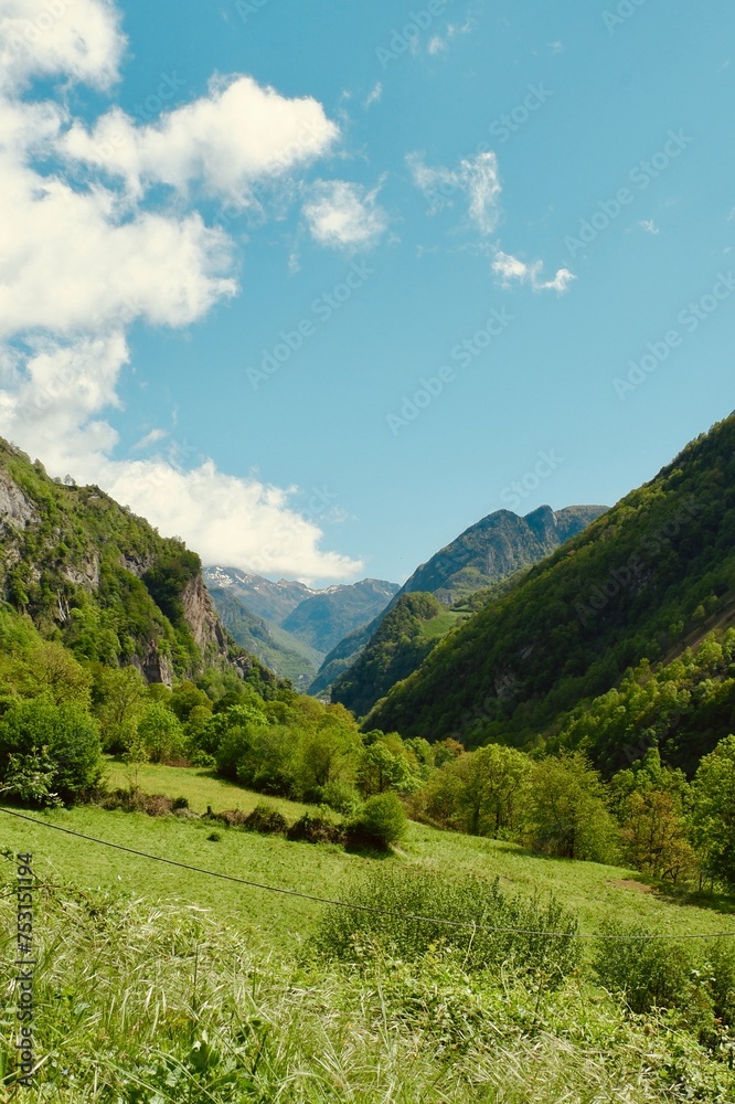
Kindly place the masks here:
POLYGON ((317 100, 287 99, 237 76, 213 79, 207 96, 149 126, 137 127, 119 108, 90 131, 77 123, 61 148, 72 160, 124 178, 136 197, 151 183, 187 192, 200 182, 210 194, 243 199, 259 179, 323 155, 338 136, 317 100))

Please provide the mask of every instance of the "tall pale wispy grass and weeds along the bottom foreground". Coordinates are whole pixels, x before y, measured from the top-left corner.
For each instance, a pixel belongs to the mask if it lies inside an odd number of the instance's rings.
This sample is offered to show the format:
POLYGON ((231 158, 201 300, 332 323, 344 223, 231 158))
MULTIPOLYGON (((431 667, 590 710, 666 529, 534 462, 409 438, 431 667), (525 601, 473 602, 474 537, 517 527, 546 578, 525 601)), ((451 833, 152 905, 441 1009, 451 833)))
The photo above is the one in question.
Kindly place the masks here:
MULTIPOLYGON (((0 898, 0 933, 14 902, 0 898)), ((672 1013, 631 1018, 573 970, 552 990, 439 945, 348 964, 280 953, 198 907, 39 892, 28 1104, 579 1104, 733 1100, 672 1013)), ((13 943, 0 947, 12 1004, 13 943)), ((1 1060, 12 1081, 13 1028, 1 1060)))

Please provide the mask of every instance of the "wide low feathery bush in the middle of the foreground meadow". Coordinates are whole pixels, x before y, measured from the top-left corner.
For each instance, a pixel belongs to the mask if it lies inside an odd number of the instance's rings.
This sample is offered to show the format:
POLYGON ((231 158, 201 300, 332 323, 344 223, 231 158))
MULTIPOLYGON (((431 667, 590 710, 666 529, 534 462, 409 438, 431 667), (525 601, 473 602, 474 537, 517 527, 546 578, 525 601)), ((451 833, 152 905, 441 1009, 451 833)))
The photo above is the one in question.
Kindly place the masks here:
POLYGON ((468 972, 507 965, 519 974, 543 973, 550 987, 558 985, 577 966, 583 954, 577 921, 553 898, 521 901, 507 898, 498 880, 451 875, 427 870, 386 869, 384 863, 364 881, 355 883, 343 900, 375 910, 362 912, 331 909, 316 936, 317 952, 329 958, 354 963, 360 947, 405 960, 422 958, 429 946, 457 953, 468 972), (412 916, 452 921, 452 926, 412 916), (473 926, 477 925, 477 926, 473 926), (544 936, 519 932, 492 932, 488 927, 555 932, 544 936))

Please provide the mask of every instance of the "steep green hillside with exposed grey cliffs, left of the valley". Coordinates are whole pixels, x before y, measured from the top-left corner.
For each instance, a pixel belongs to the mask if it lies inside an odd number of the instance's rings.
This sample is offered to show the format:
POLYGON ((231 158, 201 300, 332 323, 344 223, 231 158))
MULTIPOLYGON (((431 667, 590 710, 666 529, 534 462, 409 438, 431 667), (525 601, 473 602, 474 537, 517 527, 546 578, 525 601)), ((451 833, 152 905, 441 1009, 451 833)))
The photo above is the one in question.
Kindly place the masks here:
POLYGON ((98 487, 51 479, 3 440, 0 595, 6 626, 30 622, 79 660, 134 666, 152 682, 237 664, 274 681, 223 630, 194 552, 98 487))

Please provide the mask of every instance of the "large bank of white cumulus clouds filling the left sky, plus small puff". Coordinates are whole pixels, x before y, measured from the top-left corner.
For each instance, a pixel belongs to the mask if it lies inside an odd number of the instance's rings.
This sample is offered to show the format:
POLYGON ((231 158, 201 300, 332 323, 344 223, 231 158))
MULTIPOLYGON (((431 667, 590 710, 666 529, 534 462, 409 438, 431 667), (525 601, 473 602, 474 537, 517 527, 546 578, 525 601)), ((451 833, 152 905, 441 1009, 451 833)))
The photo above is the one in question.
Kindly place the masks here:
MULTIPOLYGON (((187 466, 182 450, 114 458, 108 418, 130 323, 185 326, 237 293, 232 243, 192 206, 196 192, 247 199, 258 182, 296 177, 338 136, 316 100, 245 76, 214 82, 150 126, 117 108, 86 126, 60 102, 23 98, 39 77, 109 88, 125 47, 109 0, 0 0, 0 433, 53 475, 96 482, 182 535, 205 561, 350 577, 361 565, 321 549, 318 518, 294 509, 290 491, 207 459, 187 466), (175 208, 157 206, 150 189, 161 184, 175 208)), ((352 222, 330 231, 326 209, 315 215, 327 244, 363 242, 380 225, 374 195, 344 187, 332 198, 344 210, 352 195, 352 222)), ((153 431, 140 448, 164 436, 153 431)))

